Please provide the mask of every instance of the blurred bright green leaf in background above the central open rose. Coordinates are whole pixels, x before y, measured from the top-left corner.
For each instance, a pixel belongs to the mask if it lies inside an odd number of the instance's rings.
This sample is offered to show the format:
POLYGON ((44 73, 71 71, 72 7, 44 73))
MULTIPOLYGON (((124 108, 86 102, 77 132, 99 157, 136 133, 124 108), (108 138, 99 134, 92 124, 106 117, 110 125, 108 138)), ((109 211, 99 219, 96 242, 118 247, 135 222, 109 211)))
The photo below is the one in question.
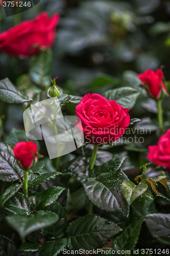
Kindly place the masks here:
POLYGON ((94 78, 94 80, 90 83, 89 88, 95 89, 95 88, 103 88, 104 86, 108 86, 111 84, 117 84, 118 79, 109 76, 107 74, 99 74, 97 77, 94 78))

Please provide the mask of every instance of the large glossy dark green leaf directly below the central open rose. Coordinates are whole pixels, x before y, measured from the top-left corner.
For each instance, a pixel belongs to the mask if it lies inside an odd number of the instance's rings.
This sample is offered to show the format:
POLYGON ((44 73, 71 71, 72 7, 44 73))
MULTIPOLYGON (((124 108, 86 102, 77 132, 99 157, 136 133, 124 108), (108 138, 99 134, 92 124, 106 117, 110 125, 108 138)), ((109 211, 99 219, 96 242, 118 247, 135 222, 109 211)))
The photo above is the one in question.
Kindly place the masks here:
POLYGON ((99 208, 127 217, 129 207, 120 189, 125 180, 128 178, 121 170, 101 174, 97 179, 88 178, 84 182, 84 191, 99 208))

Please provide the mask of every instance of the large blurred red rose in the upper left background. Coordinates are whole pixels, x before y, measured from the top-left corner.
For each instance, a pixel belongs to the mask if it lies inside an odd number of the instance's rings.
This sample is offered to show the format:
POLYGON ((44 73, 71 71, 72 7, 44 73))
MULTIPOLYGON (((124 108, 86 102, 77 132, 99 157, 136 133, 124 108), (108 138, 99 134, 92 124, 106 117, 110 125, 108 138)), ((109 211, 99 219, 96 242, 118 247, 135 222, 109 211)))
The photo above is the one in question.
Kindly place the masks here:
POLYGON ((47 12, 37 15, 33 20, 26 20, 0 34, 0 49, 14 56, 29 57, 38 49, 52 47, 55 40, 59 14, 49 18, 47 12))

